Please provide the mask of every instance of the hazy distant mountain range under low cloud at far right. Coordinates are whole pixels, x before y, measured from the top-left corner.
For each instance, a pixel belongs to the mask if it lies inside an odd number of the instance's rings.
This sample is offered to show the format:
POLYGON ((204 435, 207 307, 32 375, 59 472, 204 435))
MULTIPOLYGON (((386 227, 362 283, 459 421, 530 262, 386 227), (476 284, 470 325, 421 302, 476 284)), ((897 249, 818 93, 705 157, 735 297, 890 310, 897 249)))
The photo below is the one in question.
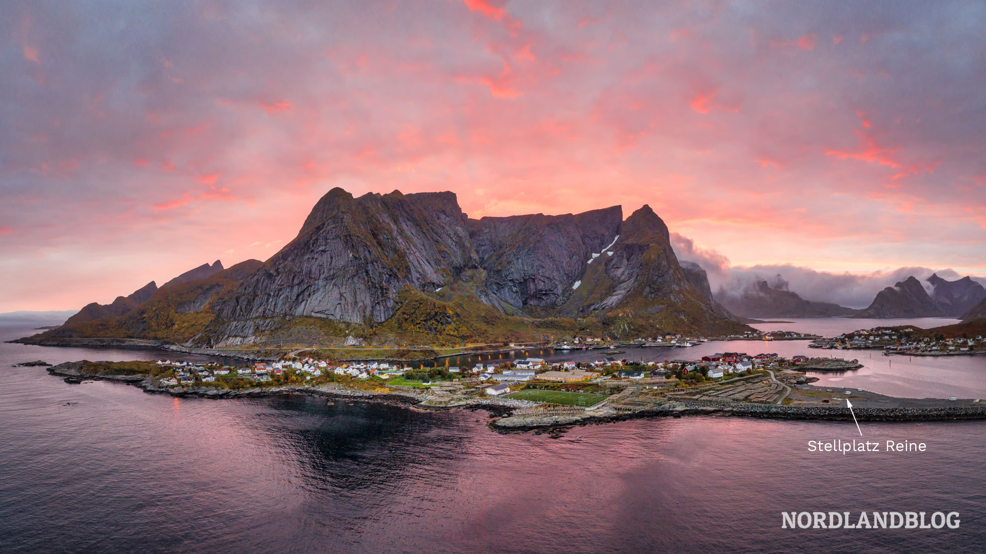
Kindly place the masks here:
POLYGON ((716 299, 730 312, 746 318, 986 317, 986 288, 970 277, 947 280, 935 274, 926 280, 932 290, 930 294, 916 277, 907 277, 880 290, 870 306, 862 310, 806 300, 788 290, 781 276, 774 277, 773 286, 761 278, 743 287, 739 293, 720 289, 716 299))

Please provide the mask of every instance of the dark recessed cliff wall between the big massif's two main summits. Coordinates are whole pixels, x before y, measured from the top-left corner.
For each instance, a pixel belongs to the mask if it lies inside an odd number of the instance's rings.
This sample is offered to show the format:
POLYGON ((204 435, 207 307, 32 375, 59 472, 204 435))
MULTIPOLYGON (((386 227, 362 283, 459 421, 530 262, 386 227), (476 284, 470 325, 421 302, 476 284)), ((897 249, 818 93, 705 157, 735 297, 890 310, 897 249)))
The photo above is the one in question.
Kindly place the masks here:
POLYGON ((490 297, 520 310, 563 304, 586 260, 615 239, 619 206, 578 215, 512 215, 469 219, 469 238, 486 272, 490 297))

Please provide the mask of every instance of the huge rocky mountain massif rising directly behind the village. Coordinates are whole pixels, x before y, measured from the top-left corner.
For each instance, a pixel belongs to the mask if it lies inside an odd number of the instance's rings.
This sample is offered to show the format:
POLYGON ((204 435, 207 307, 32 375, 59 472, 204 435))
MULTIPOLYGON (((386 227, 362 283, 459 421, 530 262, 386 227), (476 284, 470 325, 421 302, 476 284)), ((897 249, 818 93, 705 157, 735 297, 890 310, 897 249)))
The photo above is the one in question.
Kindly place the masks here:
POLYGON ((644 206, 472 219, 456 195, 332 189, 266 262, 220 262, 32 341, 144 338, 186 345, 446 344, 748 330, 680 264, 644 206))

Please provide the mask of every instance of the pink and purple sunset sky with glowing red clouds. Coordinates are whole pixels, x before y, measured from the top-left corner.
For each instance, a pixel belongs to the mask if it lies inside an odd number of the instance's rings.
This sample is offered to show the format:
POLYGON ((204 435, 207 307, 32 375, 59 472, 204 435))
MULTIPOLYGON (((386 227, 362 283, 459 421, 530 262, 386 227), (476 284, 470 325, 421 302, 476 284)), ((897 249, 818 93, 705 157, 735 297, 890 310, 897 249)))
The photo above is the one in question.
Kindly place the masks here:
POLYGON ((984 26, 948 1, 8 0, 0 311, 265 260, 335 186, 648 204, 736 268, 986 276, 984 26))

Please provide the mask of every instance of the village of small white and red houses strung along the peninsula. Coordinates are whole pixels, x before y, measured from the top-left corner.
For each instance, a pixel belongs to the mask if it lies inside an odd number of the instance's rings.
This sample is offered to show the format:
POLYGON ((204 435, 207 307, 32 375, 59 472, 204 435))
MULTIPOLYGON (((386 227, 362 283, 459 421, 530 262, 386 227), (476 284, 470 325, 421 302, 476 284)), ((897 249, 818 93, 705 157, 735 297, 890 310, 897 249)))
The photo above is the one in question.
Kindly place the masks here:
MULTIPOLYGON (((824 358, 829 360, 829 358, 824 358)), ((700 385, 760 376, 774 380, 772 370, 788 377, 803 377, 797 368, 810 362, 805 355, 786 359, 776 353, 750 355, 722 352, 699 360, 639 362, 599 357, 594 361, 547 361, 524 358, 472 367, 417 367, 387 362, 333 362, 305 356, 275 362, 254 362, 245 367, 158 360, 155 386, 172 394, 212 396, 222 391, 276 391, 281 387, 328 387, 335 391, 398 393, 413 396, 422 406, 454 407, 468 403, 493 403, 514 408, 554 413, 561 409, 597 410, 614 406, 625 411, 638 405, 637 397, 664 398, 667 393, 700 385), (210 389, 212 389, 210 391, 210 389), (640 392, 645 391, 641 396, 640 392), (554 410, 554 411, 553 411, 554 410)), ((760 380, 754 380, 759 382, 760 380)), ((780 386, 780 384, 778 384, 780 386)), ((752 401, 759 398, 752 398, 752 401)))

